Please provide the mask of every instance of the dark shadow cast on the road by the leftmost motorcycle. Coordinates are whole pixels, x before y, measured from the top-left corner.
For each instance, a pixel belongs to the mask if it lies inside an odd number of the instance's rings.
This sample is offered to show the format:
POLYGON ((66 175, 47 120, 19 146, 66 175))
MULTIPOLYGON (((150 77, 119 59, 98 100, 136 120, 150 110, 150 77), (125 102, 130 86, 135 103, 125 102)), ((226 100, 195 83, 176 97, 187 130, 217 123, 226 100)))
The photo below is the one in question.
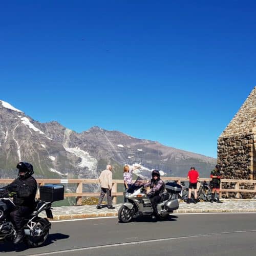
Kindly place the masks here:
MULTIPOLYGON (((39 247, 44 247, 47 246, 49 244, 52 244, 58 240, 62 240, 62 239, 68 239, 69 236, 67 234, 61 234, 61 233, 55 233, 55 234, 49 234, 46 242, 39 247)), ((5 243, 0 243, 0 252, 11 252, 11 251, 25 251, 29 249, 29 247, 26 245, 25 242, 14 245, 12 242, 7 241, 5 243)))

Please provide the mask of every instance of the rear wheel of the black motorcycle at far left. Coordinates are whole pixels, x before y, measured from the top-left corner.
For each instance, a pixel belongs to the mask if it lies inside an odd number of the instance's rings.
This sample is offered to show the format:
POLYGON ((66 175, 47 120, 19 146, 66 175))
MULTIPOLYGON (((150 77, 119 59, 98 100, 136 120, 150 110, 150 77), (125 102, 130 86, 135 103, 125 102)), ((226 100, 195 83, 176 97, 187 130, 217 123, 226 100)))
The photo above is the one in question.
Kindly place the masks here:
POLYGON ((50 226, 46 228, 46 226, 49 226, 49 221, 43 218, 36 219, 36 232, 40 235, 37 236, 28 236, 26 238, 26 242, 29 247, 38 247, 45 243, 50 226), (41 232, 41 233, 40 233, 41 232))

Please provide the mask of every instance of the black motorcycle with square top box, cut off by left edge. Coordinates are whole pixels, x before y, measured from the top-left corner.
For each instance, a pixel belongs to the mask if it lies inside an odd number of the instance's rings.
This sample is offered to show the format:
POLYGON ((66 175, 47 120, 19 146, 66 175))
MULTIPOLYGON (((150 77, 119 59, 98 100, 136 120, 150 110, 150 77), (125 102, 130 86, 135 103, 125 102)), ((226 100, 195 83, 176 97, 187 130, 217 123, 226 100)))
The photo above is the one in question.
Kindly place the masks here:
MULTIPOLYGON (((63 187, 63 185, 60 186, 63 187)), ((60 186, 58 185, 58 187, 60 186)), ((38 247, 45 243, 51 228, 51 223, 47 218, 53 218, 51 210, 52 202, 63 199, 63 188, 61 188, 60 193, 58 191, 58 194, 60 195, 59 198, 56 196, 55 198, 52 198, 52 195, 49 193, 41 193, 41 188, 43 188, 42 191, 45 191, 44 188, 49 190, 49 187, 54 188, 54 185, 40 187, 40 200, 36 202, 35 210, 27 218, 24 218, 24 240, 30 247, 38 247), (44 198, 47 200, 44 201, 44 198), (38 217, 42 211, 46 211, 47 218, 38 217)), ((50 190, 56 194, 55 191, 59 189, 50 190)), ((50 191, 50 193, 52 192, 50 191)), ((16 236, 14 225, 10 220, 10 212, 15 209, 15 204, 11 200, 14 194, 15 193, 11 193, 6 189, 0 188, 0 243, 5 241, 13 241, 16 236)))

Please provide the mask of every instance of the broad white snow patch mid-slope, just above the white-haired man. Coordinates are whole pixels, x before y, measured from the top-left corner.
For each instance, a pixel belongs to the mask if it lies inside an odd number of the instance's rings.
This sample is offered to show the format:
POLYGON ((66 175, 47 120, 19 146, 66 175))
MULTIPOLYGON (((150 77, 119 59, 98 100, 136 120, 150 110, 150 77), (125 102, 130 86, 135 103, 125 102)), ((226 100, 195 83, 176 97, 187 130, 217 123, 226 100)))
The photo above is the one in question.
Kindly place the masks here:
POLYGON ((77 157, 81 158, 81 162, 78 164, 79 167, 88 167, 89 170, 96 170, 97 159, 91 157, 88 152, 80 150, 79 147, 64 147, 66 151, 71 154, 74 154, 77 157))

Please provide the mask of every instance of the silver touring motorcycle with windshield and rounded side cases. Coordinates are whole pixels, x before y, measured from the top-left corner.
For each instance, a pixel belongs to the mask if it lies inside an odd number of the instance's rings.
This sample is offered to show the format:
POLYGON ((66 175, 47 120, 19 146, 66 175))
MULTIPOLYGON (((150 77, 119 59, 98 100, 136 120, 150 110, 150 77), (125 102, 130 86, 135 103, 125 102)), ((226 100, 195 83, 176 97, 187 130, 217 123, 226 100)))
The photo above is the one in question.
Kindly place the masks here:
MULTIPOLYGON (((120 222, 127 223, 132 221, 133 218, 153 215, 152 204, 143 183, 145 183, 145 179, 138 177, 132 186, 127 189, 124 195, 127 202, 118 211, 120 222)), ((168 218, 169 214, 172 214, 174 210, 179 208, 179 201, 175 195, 180 193, 182 187, 177 183, 167 182, 165 189, 166 193, 161 195, 161 200, 157 204, 160 220, 168 218)))

